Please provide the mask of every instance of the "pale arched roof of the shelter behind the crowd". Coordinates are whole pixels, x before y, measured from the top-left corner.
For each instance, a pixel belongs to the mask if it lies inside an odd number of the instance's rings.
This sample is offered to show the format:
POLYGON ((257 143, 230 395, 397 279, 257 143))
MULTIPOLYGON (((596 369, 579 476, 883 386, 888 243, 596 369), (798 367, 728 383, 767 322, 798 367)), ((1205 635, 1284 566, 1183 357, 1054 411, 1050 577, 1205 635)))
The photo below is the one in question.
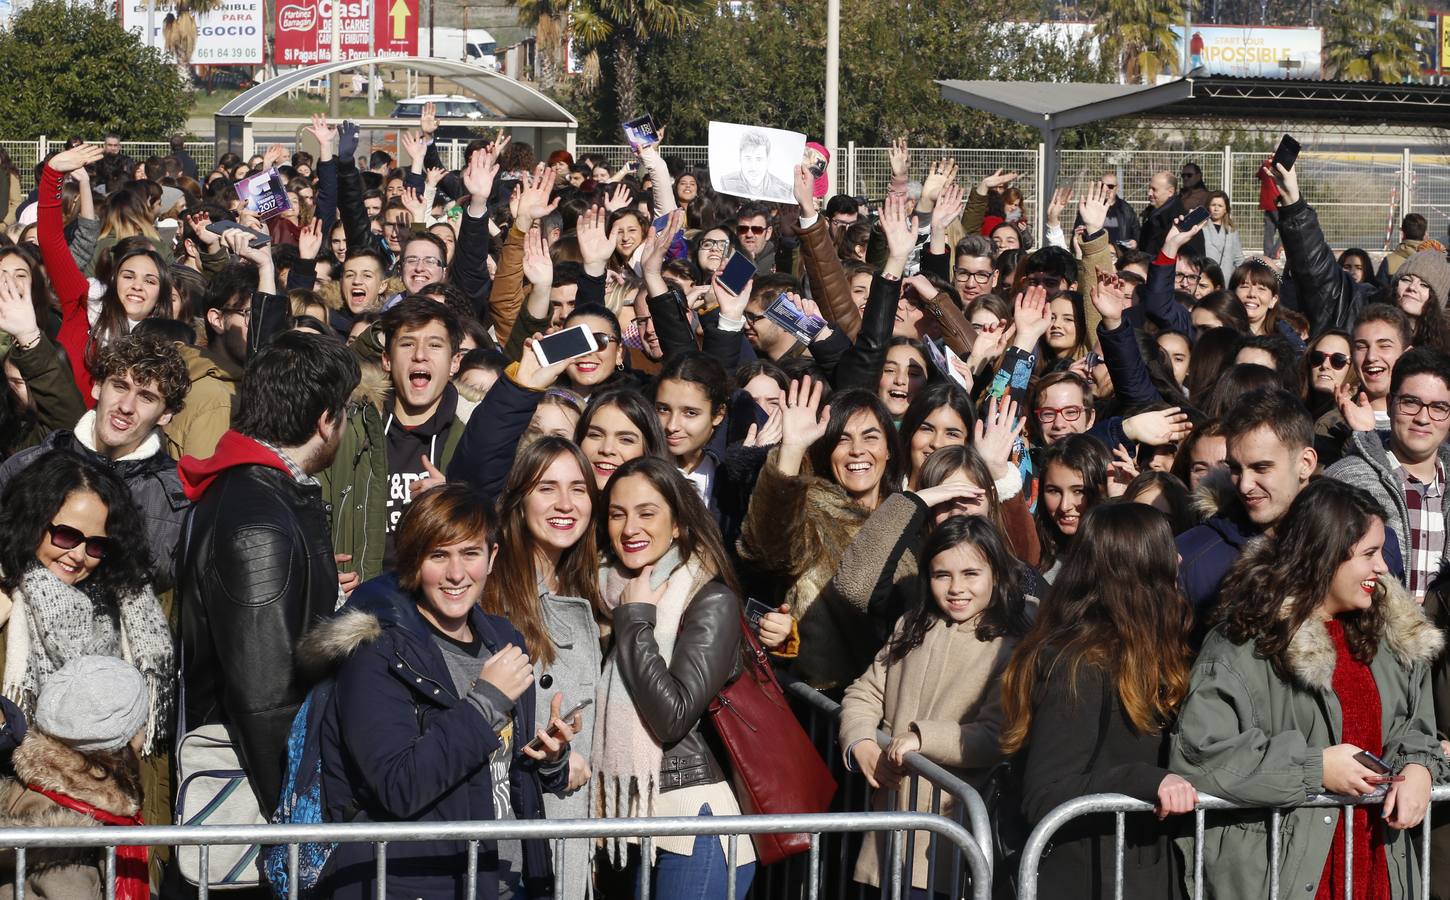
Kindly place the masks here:
POLYGON ((218 110, 216 114, 249 117, 289 90, 300 88, 309 81, 332 75, 334 72, 347 72, 365 68, 367 65, 403 67, 420 75, 448 78, 461 91, 473 94, 484 106, 494 110, 500 119, 552 122, 564 128, 579 126, 579 120, 568 110, 526 84, 480 65, 432 57, 371 57, 307 65, 283 72, 244 91, 218 110))

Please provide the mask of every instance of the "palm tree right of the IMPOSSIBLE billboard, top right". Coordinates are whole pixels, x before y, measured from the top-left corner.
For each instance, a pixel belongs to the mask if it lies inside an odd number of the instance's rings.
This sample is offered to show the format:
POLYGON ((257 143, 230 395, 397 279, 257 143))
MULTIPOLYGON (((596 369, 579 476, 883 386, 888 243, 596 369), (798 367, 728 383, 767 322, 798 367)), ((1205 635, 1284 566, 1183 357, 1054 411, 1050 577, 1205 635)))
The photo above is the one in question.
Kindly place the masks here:
POLYGON ((1324 65, 1331 78, 1395 84, 1420 77, 1417 45, 1431 41, 1405 0, 1341 0, 1324 17, 1324 65))

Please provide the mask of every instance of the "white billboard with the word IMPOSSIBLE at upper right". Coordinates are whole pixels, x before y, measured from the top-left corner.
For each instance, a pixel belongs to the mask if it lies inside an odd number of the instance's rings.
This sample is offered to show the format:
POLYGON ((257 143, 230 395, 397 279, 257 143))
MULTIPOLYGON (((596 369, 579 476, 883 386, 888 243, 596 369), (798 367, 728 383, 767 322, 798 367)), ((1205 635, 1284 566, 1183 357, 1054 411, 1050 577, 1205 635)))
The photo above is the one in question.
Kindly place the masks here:
MULTIPOLYGON (((1183 26, 1173 26, 1183 46, 1183 26)), ((1189 70, 1246 78, 1320 78, 1324 33, 1317 28, 1193 26, 1189 70)))

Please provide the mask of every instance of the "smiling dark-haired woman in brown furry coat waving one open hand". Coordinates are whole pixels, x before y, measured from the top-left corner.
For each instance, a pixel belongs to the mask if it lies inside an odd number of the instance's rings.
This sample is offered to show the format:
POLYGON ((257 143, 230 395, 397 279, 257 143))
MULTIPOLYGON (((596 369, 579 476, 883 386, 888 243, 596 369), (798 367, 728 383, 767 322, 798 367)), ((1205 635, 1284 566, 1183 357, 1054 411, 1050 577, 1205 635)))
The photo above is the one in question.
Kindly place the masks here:
POLYGON ((755 483, 740 555, 771 583, 773 606, 799 623, 799 646, 770 641, 773 649, 793 654, 796 672, 812 686, 832 688, 864 671, 879 646, 866 610, 842 597, 832 577, 866 519, 899 488, 903 459, 874 394, 841 391, 821 416, 821 390, 809 377, 790 386, 783 438, 755 483))

